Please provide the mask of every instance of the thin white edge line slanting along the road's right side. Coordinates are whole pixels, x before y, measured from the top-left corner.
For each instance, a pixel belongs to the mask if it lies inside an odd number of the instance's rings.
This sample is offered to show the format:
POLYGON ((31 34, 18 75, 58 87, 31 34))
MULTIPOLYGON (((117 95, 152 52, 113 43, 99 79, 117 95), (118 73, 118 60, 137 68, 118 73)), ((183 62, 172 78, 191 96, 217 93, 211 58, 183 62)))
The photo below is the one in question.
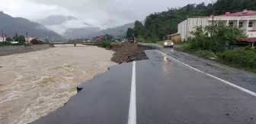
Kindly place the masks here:
MULTIPOLYGON (((158 51, 158 50, 156 50, 156 51, 158 51)), ((158 51, 158 52, 160 52, 161 54, 165 54, 165 53, 163 53, 162 51, 158 51)), ((181 62, 180 60, 176 60, 176 59, 174 59, 174 57, 170 57, 170 56, 168 56, 167 54, 165 54, 165 56, 171 58, 172 60, 178 61, 178 62, 181 63, 181 64, 184 64, 184 63, 181 62)), ((187 65, 187 64, 184 64, 184 65, 187 66, 187 67, 190 67, 190 66, 187 65)), ((196 70, 196 71, 198 71, 198 72, 200 72, 200 73, 204 73, 203 71, 197 70, 197 69, 194 68, 194 67, 190 67, 190 68, 193 69, 193 70, 196 70)), ((226 81, 226 80, 224 80, 224 79, 219 79, 218 77, 213 76, 213 75, 210 75, 209 73, 204 73, 204 74, 206 74, 207 76, 212 77, 213 79, 217 79, 217 80, 219 80, 219 81, 221 81, 221 82, 224 82, 224 83, 226 83, 227 85, 230 85, 230 86, 232 86, 232 87, 234 87, 234 88, 238 88, 239 90, 244 91, 245 93, 248 93, 249 95, 252 95, 252 96, 256 97, 256 93, 253 92, 253 91, 250 91, 250 90, 248 90, 248 89, 246 89, 246 88, 242 88, 242 87, 240 87, 240 86, 238 86, 238 85, 232 84, 231 82, 228 82, 228 81, 226 81)))

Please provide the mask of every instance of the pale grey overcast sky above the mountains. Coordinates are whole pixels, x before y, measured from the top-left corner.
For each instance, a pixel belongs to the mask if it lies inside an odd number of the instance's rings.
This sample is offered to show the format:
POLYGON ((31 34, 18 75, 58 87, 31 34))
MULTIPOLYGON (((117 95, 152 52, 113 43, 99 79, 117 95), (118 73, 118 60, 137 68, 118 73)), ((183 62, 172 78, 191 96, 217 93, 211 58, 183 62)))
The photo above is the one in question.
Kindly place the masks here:
POLYGON ((211 0, 0 0, 0 11, 30 20, 71 15, 101 28, 144 20, 153 12, 211 0))

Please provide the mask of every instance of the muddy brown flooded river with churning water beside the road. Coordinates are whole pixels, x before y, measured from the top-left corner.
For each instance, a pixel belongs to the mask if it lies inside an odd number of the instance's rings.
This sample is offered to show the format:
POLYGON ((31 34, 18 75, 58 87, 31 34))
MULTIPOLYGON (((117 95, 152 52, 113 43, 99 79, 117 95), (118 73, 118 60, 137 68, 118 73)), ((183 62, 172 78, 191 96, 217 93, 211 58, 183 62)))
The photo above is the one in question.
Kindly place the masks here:
POLYGON ((61 107, 77 85, 115 65, 112 54, 94 46, 59 45, 0 57, 0 123, 32 122, 61 107))

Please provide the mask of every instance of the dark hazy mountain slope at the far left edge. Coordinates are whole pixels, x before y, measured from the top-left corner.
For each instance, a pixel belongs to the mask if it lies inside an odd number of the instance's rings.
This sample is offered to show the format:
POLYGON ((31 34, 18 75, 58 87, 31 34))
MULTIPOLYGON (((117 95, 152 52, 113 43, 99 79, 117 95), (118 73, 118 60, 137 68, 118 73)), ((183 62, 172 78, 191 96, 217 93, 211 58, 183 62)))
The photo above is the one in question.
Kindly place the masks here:
POLYGON ((58 37, 61 38, 57 33, 46 29, 45 26, 39 23, 34 23, 22 17, 11 17, 8 14, 0 11, 0 29, 6 36, 14 36, 15 33, 25 36, 26 32, 28 36, 36 36, 40 38, 58 37))

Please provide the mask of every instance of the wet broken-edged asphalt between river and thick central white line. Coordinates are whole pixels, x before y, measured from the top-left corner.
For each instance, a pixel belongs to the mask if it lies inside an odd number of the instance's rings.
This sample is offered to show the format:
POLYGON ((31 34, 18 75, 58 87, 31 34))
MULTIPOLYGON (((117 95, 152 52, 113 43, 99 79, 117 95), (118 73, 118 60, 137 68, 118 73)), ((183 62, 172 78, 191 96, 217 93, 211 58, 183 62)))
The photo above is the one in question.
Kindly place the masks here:
POLYGON ((89 82, 58 110, 35 124, 126 123, 130 101, 132 63, 110 67, 89 82))

